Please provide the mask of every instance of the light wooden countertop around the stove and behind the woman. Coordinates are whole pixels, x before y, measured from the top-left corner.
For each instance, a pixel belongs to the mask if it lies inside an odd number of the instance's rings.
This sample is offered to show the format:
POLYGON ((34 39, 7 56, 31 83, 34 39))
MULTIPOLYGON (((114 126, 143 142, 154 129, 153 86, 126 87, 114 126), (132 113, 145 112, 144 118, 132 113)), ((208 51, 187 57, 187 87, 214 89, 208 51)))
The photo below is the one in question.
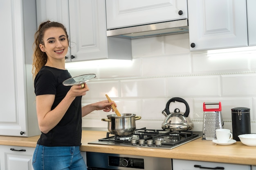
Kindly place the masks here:
MULTIPOLYGON (((256 147, 241 142, 216 145, 199 138, 170 150, 88 144, 103 137, 106 131, 83 131, 81 151, 256 165, 256 147)), ((38 138, 0 136, 0 145, 36 147, 38 138)))

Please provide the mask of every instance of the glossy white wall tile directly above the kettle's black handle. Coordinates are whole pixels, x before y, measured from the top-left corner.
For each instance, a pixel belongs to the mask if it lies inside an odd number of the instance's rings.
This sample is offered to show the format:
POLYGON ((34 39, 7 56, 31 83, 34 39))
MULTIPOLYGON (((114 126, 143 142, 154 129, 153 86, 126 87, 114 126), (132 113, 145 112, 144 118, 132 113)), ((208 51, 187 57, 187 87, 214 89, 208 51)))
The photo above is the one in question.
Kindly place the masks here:
POLYGON ((168 96, 218 97, 220 76, 181 76, 166 78, 168 96))

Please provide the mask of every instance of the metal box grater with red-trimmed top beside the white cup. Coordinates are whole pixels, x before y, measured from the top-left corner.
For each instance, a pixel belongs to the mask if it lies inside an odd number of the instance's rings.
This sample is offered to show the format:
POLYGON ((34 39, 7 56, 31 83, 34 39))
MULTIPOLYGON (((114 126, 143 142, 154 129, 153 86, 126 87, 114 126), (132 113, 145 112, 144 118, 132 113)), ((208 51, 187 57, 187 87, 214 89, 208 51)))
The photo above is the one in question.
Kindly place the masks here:
POLYGON ((216 129, 222 129, 224 122, 221 115, 221 102, 204 102, 204 123, 203 123, 203 140, 214 140, 216 129), (218 107, 216 108, 216 106, 218 107))

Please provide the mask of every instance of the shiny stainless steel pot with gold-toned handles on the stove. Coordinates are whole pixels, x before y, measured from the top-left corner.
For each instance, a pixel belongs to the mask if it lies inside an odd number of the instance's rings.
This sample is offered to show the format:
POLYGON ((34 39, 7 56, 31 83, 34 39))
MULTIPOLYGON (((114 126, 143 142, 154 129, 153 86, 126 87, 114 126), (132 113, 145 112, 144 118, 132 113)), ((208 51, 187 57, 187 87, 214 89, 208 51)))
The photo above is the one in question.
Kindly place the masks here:
POLYGON ((141 116, 135 114, 116 114, 108 115, 108 119, 101 119, 108 122, 108 131, 113 135, 127 136, 135 132, 135 120, 141 119, 141 116))

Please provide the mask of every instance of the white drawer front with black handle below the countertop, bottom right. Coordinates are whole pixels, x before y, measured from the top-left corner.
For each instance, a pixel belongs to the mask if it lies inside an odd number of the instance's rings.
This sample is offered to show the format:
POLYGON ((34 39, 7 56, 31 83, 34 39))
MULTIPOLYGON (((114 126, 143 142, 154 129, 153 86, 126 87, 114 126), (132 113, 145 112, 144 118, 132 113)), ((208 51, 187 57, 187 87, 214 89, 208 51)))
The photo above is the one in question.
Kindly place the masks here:
POLYGON ((201 170, 214 169, 216 167, 222 167, 223 170, 251 170, 250 165, 173 159, 173 170, 201 170))

